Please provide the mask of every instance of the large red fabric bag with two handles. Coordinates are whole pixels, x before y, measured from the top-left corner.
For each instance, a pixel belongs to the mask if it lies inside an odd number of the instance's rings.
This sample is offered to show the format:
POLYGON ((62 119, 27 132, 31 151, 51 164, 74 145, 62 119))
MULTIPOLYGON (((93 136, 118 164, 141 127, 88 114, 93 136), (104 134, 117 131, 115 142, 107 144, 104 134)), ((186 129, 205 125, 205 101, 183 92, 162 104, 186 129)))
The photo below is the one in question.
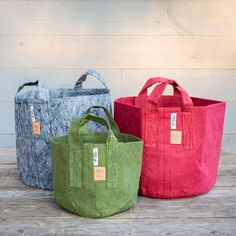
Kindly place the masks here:
POLYGON ((138 97, 119 98, 114 109, 121 132, 144 140, 140 194, 189 197, 214 186, 225 102, 190 97, 174 80, 151 78, 138 97), (162 95, 168 84, 173 96, 162 95))

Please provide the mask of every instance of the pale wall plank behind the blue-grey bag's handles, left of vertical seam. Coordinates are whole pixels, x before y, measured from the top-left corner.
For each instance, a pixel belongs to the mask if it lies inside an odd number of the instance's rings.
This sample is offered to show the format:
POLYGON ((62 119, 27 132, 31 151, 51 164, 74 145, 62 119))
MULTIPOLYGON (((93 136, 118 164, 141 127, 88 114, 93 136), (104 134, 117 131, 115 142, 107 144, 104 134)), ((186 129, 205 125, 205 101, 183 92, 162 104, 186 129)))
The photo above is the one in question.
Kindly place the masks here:
MULTIPOLYGON (((0 101, 12 101, 19 86, 27 82, 42 80, 50 89, 53 88, 73 88, 80 76, 91 68, 82 69, 10 69, 1 70, 2 86, 0 87, 0 101), (7 79, 6 79, 7 78, 7 79)), ((100 69, 106 81, 107 87, 112 91, 115 99, 120 95, 121 90, 121 69, 100 69)), ((236 73, 236 71, 235 71, 236 73)), ((103 85, 92 76, 88 76, 83 83, 85 88, 103 88, 103 85)), ((31 87, 30 89, 34 89, 31 87)), ((26 91, 25 87, 22 92, 26 91)))

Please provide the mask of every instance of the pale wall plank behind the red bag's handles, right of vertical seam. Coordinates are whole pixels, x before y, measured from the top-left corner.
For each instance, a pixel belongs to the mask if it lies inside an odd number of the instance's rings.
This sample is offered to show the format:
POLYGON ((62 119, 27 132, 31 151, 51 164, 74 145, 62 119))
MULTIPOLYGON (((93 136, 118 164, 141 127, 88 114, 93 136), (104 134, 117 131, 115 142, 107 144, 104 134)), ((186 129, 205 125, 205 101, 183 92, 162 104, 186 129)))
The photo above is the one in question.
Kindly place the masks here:
POLYGON ((236 70, 123 69, 120 95, 137 95, 147 79, 158 76, 178 81, 193 97, 235 101, 236 70))

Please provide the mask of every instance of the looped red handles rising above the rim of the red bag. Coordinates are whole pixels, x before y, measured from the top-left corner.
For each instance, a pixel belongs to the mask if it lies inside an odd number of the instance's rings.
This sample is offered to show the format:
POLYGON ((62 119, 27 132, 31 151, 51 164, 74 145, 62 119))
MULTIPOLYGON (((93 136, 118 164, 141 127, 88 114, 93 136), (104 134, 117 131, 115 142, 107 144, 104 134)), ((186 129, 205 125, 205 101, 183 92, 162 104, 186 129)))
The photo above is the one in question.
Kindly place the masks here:
POLYGON ((193 102, 188 93, 184 90, 182 86, 180 86, 175 80, 166 79, 162 77, 153 77, 150 78, 143 88, 141 89, 138 96, 147 96, 147 89, 151 87, 152 85, 160 83, 157 85, 152 93, 148 97, 148 101, 151 101, 153 103, 158 103, 160 97, 162 96, 166 86, 168 84, 172 85, 174 88, 174 95, 178 95, 182 97, 183 100, 183 109, 184 110, 190 110, 193 107, 193 102))

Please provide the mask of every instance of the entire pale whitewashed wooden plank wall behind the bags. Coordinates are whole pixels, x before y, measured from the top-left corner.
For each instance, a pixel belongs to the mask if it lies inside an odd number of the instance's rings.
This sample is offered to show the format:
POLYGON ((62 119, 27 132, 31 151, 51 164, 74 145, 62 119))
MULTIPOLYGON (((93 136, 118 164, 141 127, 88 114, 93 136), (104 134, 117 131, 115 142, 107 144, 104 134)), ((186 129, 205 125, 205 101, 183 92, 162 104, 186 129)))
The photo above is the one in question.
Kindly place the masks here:
POLYGON ((89 68, 113 99, 159 75, 226 100, 223 149, 236 152, 236 0, 0 0, 0 146, 15 145, 19 85, 72 87, 89 68))

